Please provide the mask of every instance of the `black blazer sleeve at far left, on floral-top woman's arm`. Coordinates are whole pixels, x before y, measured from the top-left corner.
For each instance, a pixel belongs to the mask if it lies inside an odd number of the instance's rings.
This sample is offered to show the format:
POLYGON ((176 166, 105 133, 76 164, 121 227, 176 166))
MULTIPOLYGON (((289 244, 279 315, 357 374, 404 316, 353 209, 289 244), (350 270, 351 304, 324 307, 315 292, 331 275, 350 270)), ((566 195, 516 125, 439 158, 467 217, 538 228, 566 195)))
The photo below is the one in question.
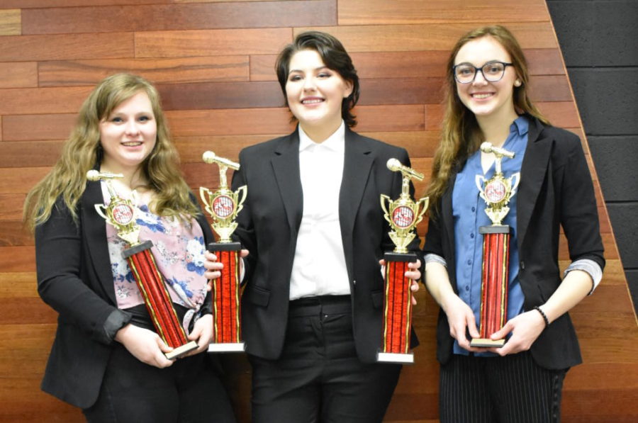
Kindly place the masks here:
POLYGON ((130 317, 82 280, 81 266, 87 255, 82 248, 82 224, 76 225, 60 198, 49 220, 35 229, 38 293, 60 319, 79 327, 91 339, 110 344, 112 329, 119 329, 130 317))

